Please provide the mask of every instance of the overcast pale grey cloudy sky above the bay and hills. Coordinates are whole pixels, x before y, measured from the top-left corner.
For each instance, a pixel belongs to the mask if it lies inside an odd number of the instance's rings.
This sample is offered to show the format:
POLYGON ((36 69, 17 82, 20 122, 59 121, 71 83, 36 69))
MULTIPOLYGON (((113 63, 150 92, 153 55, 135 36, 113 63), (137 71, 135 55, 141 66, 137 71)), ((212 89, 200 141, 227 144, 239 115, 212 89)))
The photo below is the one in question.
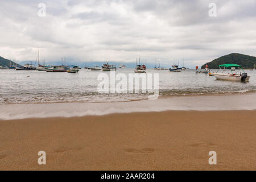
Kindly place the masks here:
POLYGON ((194 66, 233 52, 256 56, 256 0, 0 0, 0 56, 35 60, 38 46, 46 61, 194 66))

